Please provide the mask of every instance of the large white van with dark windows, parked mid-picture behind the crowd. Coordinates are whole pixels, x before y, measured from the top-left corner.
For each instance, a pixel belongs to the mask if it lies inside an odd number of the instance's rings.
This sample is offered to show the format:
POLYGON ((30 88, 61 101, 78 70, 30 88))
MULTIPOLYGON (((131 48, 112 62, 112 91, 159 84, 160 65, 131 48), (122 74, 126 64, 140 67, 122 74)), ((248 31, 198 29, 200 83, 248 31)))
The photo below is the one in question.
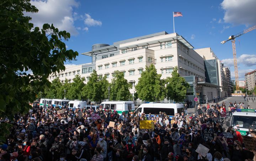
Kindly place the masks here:
POLYGON ((170 119, 175 115, 175 113, 178 113, 181 115, 181 113, 184 113, 184 106, 181 103, 143 103, 136 109, 136 113, 145 113, 148 115, 149 113, 151 115, 159 115, 159 112, 165 112, 170 119))

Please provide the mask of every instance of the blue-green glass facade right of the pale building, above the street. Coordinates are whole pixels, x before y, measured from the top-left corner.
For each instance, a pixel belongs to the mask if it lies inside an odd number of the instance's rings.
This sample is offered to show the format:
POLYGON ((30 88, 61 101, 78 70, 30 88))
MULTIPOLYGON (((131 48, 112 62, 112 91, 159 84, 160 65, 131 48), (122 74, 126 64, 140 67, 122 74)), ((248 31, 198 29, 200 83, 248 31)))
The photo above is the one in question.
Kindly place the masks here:
POLYGON ((219 85, 217 61, 215 59, 205 60, 204 69, 206 69, 205 71, 206 82, 212 83, 214 85, 219 85))

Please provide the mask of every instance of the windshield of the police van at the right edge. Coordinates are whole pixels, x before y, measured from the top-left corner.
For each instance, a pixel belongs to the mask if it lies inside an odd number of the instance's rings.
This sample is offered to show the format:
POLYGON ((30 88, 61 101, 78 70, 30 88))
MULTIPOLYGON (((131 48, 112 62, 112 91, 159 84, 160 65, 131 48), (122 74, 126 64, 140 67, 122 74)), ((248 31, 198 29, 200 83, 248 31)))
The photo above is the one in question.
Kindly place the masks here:
POLYGON ((256 117, 233 115, 231 126, 238 126, 241 128, 256 128, 256 117))

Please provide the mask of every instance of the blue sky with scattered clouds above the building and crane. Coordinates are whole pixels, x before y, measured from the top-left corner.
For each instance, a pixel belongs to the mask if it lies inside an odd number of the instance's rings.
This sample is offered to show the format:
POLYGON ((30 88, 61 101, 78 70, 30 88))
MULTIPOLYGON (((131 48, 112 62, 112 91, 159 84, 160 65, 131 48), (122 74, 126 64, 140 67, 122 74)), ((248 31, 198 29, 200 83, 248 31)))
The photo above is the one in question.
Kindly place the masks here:
MULTIPOLYGON (((71 33, 68 49, 90 51, 97 43, 113 42, 166 31, 182 35, 194 48, 211 47, 225 65, 234 71, 231 42, 220 44, 230 35, 256 24, 255 0, 32 0, 38 13, 26 13, 39 27, 53 23, 71 33)), ((236 39, 239 80, 256 68, 256 30, 236 39), (240 40, 240 43, 239 43, 240 40)), ((91 57, 79 55, 67 64, 90 63, 91 57)), ((232 73, 234 78, 234 73, 232 73)))

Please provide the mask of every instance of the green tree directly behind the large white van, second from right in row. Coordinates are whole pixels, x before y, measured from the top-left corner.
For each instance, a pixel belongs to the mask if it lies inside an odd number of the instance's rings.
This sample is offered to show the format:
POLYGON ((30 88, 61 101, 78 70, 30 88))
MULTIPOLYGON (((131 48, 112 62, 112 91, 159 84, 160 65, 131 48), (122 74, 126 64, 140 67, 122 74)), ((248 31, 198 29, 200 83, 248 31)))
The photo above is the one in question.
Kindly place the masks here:
POLYGON ((146 67, 135 86, 138 97, 150 102, 163 100, 166 92, 165 80, 161 80, 161 76, 157 74, 154 64, 146 67))

